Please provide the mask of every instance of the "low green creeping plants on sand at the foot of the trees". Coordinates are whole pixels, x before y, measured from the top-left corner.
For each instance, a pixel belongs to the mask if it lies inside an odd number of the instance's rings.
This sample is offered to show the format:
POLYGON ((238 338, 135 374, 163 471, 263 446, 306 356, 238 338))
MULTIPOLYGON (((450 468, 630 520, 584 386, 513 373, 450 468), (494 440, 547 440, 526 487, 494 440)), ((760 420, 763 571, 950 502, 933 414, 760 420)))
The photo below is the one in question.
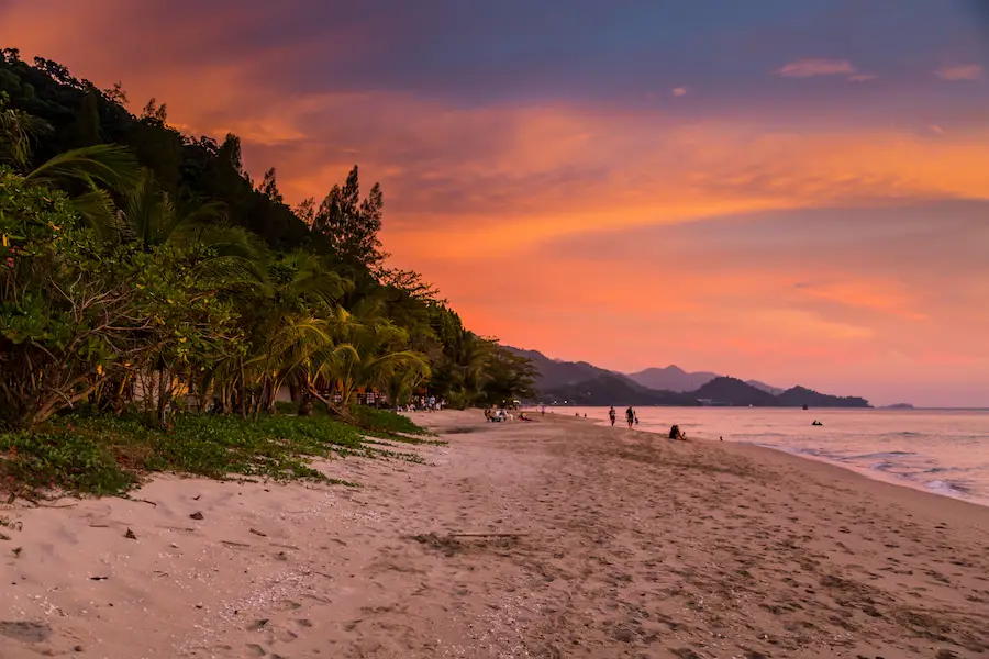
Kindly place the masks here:
MULTIPOLYGON (((379 427, 402 422, 376 413, 379 427)), ((411 424, 412 432, 424 431, 411 424)), ((0 434, 0 476, 12 492, 60 490, 78 494, 121 494, 148 472, 208 478, 270 478, 330 481, 313 458, 359 455, 405 459, 419 456, 379 449, 367 431, 325 415, 300 417, 178 414, 167 431, 137 416, 77 413, 34 431, 0 434)), ((335 481, 342 482, 342 481, 335 481)), ((353 483, 346 483, 353 484, 353 483)))

